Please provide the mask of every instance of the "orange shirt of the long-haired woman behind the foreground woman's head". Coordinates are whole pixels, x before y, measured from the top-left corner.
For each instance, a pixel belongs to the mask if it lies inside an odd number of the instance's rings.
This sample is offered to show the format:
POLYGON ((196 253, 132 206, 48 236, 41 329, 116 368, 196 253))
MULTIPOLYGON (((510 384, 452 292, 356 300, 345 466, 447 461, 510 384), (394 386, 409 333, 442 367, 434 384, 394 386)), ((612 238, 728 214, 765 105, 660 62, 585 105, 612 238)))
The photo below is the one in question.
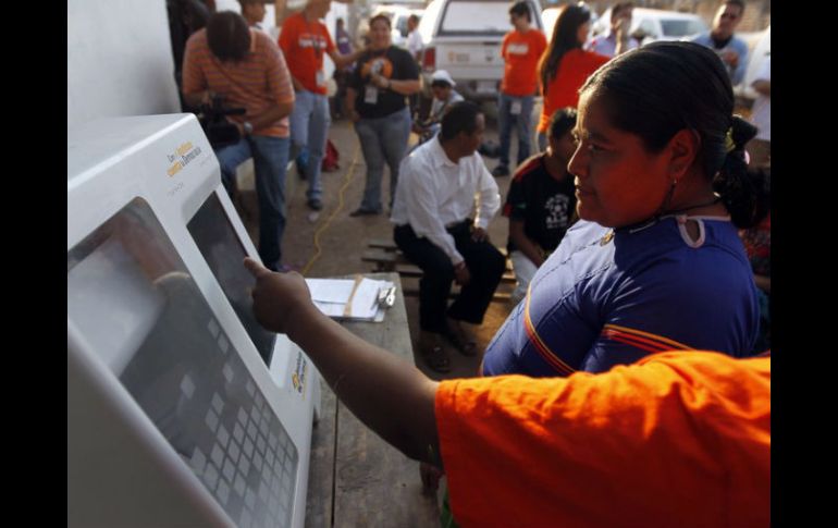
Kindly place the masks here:
POLYGON ((544 86, 541 87, 544 94, 544 106, 539 120, 539 132, 547 131, 550 118, 556 110, 565 107, 576 108, 579 105, 579 88, 609 59, 583 49, 572 49, 562 57, 556 76, 547 84, 546 89, 544 86))

